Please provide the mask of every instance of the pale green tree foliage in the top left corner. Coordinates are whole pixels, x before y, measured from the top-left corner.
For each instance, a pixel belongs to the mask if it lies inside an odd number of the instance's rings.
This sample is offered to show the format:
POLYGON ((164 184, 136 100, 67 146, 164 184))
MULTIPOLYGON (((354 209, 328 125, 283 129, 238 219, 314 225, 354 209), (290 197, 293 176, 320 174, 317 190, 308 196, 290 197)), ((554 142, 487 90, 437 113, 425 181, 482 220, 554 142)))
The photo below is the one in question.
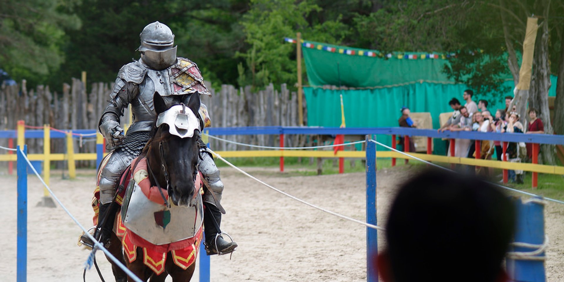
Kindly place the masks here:
POLYGON ((59 68, 65 30, 80 28, 78 0, 0 0, 0 67, 15 80, 41 83, 59 68))

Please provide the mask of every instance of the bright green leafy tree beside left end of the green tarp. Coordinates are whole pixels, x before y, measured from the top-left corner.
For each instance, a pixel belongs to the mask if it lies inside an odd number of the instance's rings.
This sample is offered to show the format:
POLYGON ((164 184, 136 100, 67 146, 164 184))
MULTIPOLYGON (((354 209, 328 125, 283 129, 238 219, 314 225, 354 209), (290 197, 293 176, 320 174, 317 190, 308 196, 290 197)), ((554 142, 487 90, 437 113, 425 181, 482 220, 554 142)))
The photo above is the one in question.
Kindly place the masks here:
POLYGON ((297 81, 296 46, 284 44, 284 37, 301 32, 309 40, 340 43, 349 27, 340 22, 340 16, 315 23, 307 20, 320 11, 321 7, 307 0, 252 0, 242 21, 249 49, 238 54, 246 63, 245 82, 263 87, 270 82, 293 85, 297 81))

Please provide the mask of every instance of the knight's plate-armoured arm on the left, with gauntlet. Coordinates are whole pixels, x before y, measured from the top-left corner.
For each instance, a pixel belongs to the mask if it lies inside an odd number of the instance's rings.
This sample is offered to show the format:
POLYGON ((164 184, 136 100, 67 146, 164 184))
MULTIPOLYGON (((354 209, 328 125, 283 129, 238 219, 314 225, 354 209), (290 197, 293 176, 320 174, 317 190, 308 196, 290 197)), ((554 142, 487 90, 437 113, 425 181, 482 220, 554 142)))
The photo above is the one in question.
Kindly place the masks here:
POLYGON ((104 135, 107 143, 112 147, 121 143, 124 138, 121 133, 120 118, 124 109, 139 94, 139 83, 143 81, 147 70, 138 62, 124 65, 117 74, 108 105, 104 109, 98 129, 104 135))

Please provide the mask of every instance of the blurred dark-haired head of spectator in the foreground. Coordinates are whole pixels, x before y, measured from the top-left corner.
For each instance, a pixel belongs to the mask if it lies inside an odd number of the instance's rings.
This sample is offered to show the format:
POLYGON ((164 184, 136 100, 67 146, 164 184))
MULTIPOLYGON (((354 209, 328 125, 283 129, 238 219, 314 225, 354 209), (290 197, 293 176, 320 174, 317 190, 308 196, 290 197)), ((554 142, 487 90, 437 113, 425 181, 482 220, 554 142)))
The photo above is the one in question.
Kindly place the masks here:
POLYGON ((514 218, 512 202, 492 184, 423 171, 391 206, 378 271, 385 282, 506 281, 501 263, 514 218))

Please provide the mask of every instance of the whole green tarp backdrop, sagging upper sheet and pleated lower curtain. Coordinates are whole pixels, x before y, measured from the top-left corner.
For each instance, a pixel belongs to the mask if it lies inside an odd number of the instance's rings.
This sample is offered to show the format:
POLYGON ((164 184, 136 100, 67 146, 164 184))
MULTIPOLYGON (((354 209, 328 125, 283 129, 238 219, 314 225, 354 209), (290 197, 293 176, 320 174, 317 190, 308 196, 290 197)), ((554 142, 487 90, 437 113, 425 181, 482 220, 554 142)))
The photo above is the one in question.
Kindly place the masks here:
MULTIPOLYGON (((328 90, 320 87, 304 87, 307 102, 307 125, 338 127, 341 125, 340 94, 345 105, 347 127, 398 126, 399 109, 406 105, 412 112, 430 112, 433 128, 439 127, 439 114, 451 112, 448 101, 460 100, 462 92, 469 87, 448 80, 442 72, 448 60, 443 54, 437 59, 421 59, 424 52, 394 52, 391 58, 367 56, 378 51, 356 49, 305 41, 303 43, 308 84, 310 86, 341 85, 349 87, 371 87, 365 90, 328 90), (328 51, 329 50, 329 51, 328 51), (355 55, 347 55, 353 53, 355 55), (362 52, 361 52, 362 51, 362 52), (417 59, 398 59, 400 55, 416 55, 417 59)), ((508 75, 508 77, 510 77, 508 75)), ((552 87, 549 96, 556 96, 556 76, 551 76, 552 87)), ((505 95, 513 96, 514 83, 504 82, 510 89, 505 95)), ((493 100, 491 94, 475 93, 473 100, 489 102, 488 108, 495 114, 496 109, 505 108, 503 96, 493 100)), ((380 136, 382 143, 390 146, 389 136, 380 136)), ((435 142, 435 153, 444 152, 444 143, 435 142)))

